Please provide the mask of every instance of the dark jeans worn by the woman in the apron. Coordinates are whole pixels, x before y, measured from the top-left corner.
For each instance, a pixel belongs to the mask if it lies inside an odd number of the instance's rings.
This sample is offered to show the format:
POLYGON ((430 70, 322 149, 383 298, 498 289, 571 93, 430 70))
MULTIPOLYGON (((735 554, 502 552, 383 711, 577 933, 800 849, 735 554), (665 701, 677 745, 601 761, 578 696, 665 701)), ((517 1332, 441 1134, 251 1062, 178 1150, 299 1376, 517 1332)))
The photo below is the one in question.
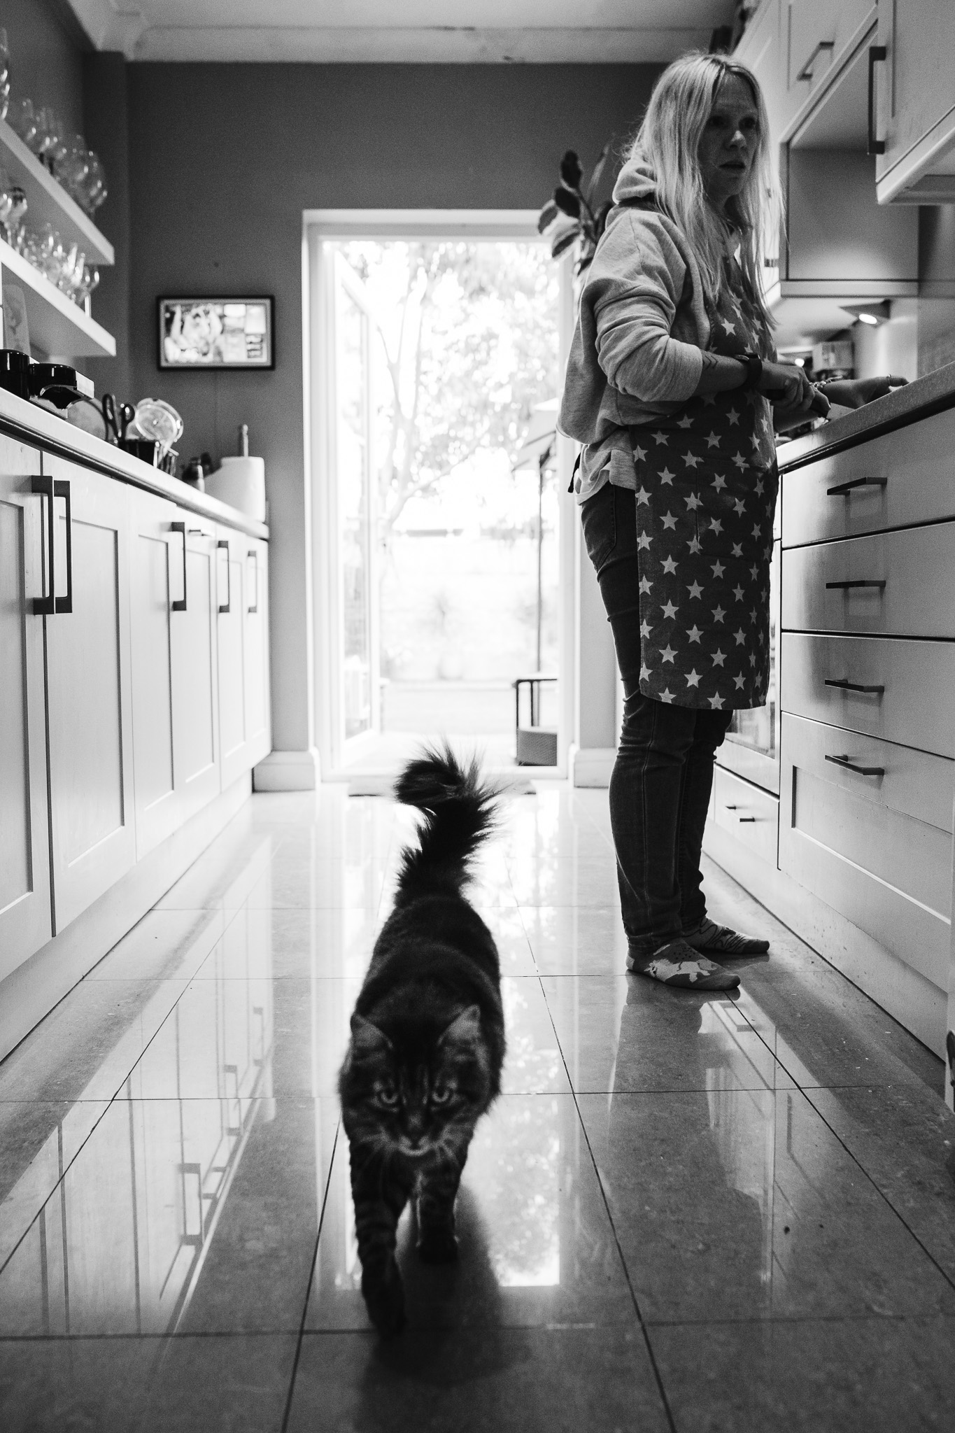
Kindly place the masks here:
POLYGON ((733 714, 641 695, 636 493, 607 483, 583 503, 580 517, 623 676, 610 825, 623 927, 630 950, 646 954, 706 916, 703 827, 716 748, 733 714))

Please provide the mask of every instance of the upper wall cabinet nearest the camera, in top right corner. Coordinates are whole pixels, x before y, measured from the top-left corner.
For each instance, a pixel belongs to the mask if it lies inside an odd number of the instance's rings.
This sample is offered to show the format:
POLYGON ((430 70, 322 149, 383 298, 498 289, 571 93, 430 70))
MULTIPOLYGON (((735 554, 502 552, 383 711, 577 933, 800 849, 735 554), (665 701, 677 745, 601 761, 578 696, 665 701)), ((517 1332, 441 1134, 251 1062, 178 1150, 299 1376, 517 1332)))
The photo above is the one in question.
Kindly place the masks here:
POLYGON ((955 202, 955 3, 882 0, 873 57, 879 203, 955 202), (876 52, 876 56, 881 52, 876 52))

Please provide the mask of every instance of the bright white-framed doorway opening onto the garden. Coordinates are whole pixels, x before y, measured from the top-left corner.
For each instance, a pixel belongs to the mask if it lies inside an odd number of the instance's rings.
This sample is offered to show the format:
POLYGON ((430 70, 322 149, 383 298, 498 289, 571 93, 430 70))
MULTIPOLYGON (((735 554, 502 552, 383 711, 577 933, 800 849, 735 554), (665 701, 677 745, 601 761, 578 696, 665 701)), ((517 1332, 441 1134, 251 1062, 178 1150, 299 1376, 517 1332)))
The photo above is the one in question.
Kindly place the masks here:
POLYGON ((325 780, 391 777, 442 737, 493 770, 567 772, 573 298, 535 219, 305 216, 325 780))

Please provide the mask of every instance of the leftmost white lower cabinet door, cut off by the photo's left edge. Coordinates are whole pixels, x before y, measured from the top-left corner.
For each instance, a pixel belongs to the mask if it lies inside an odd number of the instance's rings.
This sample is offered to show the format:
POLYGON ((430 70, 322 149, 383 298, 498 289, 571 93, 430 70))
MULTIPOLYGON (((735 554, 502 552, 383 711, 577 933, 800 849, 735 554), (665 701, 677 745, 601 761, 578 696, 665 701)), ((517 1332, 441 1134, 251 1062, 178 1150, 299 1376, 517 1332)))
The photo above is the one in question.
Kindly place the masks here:
POLYGON ((0 980, 53 933, 39 474, 36 449, 0 434, 0 980))

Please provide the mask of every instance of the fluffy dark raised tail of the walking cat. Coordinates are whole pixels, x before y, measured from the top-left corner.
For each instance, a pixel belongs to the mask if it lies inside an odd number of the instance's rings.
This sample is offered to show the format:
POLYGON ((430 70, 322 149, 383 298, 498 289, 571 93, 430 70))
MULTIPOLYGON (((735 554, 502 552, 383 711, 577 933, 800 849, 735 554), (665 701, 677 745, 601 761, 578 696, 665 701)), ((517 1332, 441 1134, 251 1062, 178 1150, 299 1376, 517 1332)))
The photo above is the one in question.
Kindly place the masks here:
POLYGON ((395 798, 424 814, 418 850, 407 847, 397 904, 427 891, 460 891, 468 863, 494 830, 500 791, 481 781, 477 758, 462 765, 448 745, 425 747, 395 781, 395 798))

